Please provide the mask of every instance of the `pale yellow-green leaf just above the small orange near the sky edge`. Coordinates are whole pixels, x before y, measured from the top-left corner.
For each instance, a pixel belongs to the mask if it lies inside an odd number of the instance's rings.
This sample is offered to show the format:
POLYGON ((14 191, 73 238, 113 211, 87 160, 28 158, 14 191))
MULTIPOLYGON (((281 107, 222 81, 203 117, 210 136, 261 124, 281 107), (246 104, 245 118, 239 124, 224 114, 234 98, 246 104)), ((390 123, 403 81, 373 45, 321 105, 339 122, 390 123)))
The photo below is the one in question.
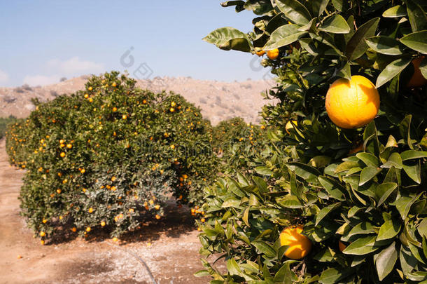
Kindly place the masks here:
POLYGON ((287 46, 300 39, 301 36, 307 34, 307 32, 299 32, 297 25, 284 25, 276 29, 270 36, 263 50, 272 50, 274 48, 281 48, 287 46))

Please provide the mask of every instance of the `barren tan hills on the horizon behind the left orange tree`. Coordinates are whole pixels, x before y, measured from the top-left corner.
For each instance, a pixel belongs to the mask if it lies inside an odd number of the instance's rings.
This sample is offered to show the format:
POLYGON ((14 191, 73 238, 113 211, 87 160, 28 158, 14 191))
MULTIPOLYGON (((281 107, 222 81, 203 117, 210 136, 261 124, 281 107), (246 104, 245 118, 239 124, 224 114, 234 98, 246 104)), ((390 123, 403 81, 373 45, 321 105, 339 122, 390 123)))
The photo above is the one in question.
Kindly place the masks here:
MULTIPOLYGON (((84 88, 88 76, 69 79, 49 86, 21 86, 0 88, 0 117, 10 114, 28 116, 34 105, 31 98, 52 100, 57 95, 73 93, 84 88)), ((271 103, 260 93, 274 86, 273 81, 220 82, 202 81, 190 77, 155 77, 153 80, 138 81, 138 86, 153 91, 172 90, 186 97, 202 109, 205 118, 213 124, 234 116, 248 122, 258 122, 258 112, 264 104, 271 103)))

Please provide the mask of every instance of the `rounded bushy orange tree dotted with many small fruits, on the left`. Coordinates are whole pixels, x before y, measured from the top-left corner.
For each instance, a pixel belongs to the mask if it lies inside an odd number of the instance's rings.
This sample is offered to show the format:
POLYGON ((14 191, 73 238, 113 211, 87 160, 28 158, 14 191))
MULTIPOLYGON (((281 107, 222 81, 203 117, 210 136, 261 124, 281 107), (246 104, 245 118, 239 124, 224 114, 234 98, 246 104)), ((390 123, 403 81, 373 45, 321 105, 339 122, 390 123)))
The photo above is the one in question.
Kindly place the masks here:
POLYGON ((152 93, 118 72, 40 104, 10 126, 10 161, 27 168, 22 214, 45 238, 59 228, 118 237, 160 219, 171 195, 194 203, 216 175, 211 126, 174 93, 152 93))

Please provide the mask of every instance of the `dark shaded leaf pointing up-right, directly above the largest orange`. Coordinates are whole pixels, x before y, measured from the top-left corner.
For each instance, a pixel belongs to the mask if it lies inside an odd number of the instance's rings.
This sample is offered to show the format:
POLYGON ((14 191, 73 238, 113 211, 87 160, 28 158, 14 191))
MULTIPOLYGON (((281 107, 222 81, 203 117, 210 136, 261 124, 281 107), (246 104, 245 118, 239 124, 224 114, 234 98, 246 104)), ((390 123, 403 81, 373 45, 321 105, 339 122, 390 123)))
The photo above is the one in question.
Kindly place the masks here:
POLYGON ((379 18, 373 18, 357 29, 346 45, 345 54, 347 58, 350 60, 356 60, 365 53, 368 48, 365 39, 374 36, 378 23, 379 18))

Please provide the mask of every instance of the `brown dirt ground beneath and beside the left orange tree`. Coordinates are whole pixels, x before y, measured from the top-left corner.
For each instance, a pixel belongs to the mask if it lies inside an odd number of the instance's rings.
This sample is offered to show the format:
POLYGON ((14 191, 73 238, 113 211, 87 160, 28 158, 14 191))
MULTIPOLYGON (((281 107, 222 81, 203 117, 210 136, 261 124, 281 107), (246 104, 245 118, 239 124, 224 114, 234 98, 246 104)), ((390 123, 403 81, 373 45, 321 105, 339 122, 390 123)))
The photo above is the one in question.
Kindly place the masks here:
POLYGON ((193 276, 203 268, 188 209, 171 204, 167 217, 126 236, 120 246, 107 236, 71 237, 43 246, 19 215, 23 175, 8 164, 0 140, 0 283, 153 283, 130 252, 144 259, 158 284, 209 282, 193 276))

